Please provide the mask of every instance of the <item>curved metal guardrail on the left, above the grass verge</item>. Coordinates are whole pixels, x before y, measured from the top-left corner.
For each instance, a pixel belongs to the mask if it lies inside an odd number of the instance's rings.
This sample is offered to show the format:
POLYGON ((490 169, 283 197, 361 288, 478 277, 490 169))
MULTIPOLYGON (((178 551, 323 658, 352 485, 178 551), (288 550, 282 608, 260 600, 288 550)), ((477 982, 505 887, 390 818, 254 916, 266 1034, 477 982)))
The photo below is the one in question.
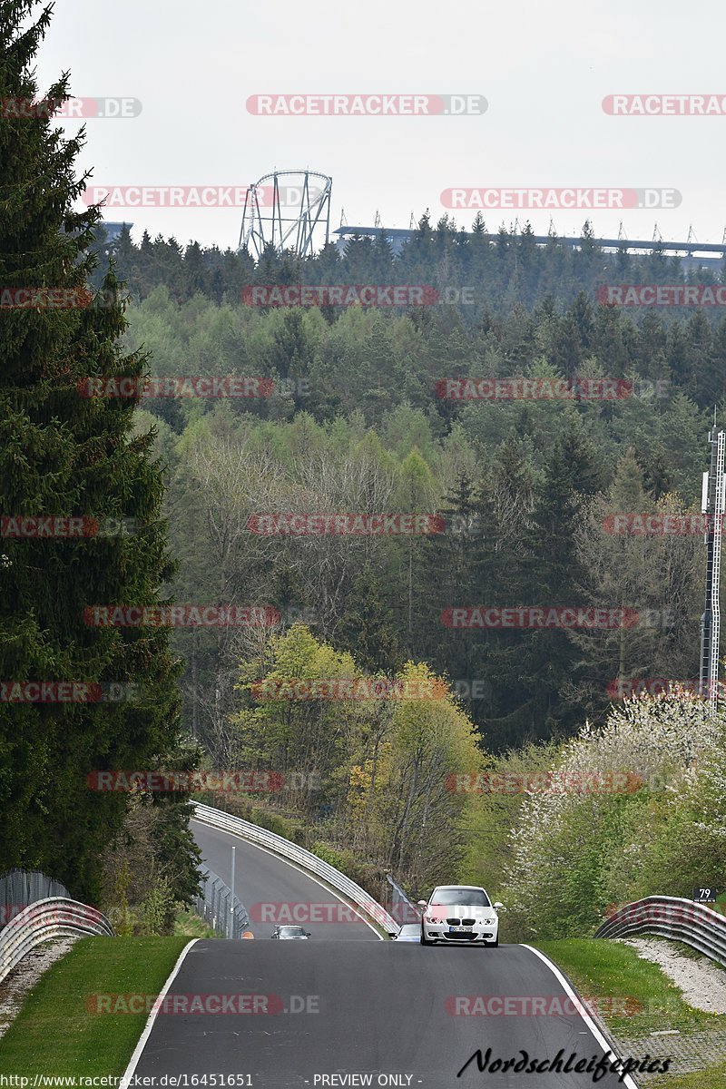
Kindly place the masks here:
POLYGON ((97 908, 64 896, 48 896, 29 904, 0 934, 0 982, 36 945, 50 938, 76 934, 113 938, 113 927, 97 908))

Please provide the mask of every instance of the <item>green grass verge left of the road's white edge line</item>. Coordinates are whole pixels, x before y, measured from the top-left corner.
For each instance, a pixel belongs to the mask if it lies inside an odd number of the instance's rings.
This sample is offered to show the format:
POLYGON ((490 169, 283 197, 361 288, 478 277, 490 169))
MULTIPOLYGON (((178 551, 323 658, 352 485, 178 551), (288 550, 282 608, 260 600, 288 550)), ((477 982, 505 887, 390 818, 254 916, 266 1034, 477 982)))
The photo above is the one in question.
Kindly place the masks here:
POLYGON ((51 965, 0 1039, 0 1069, 16 1075, 121 1075, 147 1014, 96 1014, 91 995, 159 994, 189 941, 83 938, 51 965))

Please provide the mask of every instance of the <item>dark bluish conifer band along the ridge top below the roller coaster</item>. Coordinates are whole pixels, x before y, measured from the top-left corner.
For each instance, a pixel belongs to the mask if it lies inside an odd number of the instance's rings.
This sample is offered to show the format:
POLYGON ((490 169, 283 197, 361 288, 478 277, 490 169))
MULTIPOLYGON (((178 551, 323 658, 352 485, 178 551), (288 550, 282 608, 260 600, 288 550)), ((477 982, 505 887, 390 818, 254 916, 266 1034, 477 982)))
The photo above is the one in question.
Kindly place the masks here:
MULTIPOLYGON (((655 243, 649 254, 604 250, 590 221, 585 222, 577 246, 554 233, 546 245, 538 245, 529 223, 522 229, 502 223, 493 237, 480 212, 470 230, 460 230, 448 215, 432 225, 427 210, 399 250, 385 233, 374 240, 353 234, 342 248, 330 243, 313 257, 300 258, 292 250, 280 254, 268 246, 255 261, 246 248, 202 248, 196 242, 182 246, 174 237, 152 240, 146 231, 135 245, 127 225, 107 244, 102 224, 95 248, 101 258, 115 258, 135 301, 162 285, 179 303, 202 294, 216 303, 237 304, 244 289, 255 284, 418 284, 430 289, 424 296, 430 302, 435 297, 440 305, 460 304, 462 316, 471 323, 488 316, 504 317, 518 305, 530 311, 549 297, 565 307, 585 292, 594 302, 598 290, 608 284, 721 280, 710 269, 686 272, 684 261, 666 254, 665 243, 655 243)), ((94 280, 97 286, 102 266, 103 261, 94 280)), ((687 309, 668 307, 665 313, 682 317, 687 309)), ((713 309, 717 314, 719 308, 713 309)), ((331 309, 327 315, 331 317, 331 309)))

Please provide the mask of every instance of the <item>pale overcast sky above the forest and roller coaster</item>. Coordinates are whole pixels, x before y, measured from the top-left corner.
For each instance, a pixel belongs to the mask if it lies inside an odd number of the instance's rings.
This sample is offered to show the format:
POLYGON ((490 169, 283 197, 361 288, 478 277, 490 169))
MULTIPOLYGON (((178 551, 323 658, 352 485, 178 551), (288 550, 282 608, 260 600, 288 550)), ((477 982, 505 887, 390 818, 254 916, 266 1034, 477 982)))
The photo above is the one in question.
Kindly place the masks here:
MULTIPOLYGON (((726 227, 726 113, 613 117, 610 94, 725 99, 724 5, 717 0, 57 0, 41 48, 44 89, 70 70, 73 94, 139 99, 136 118, 91 119, 79 166, 98 185, 238 185, 274 169, 333 179, 341 221, 435 222, 450 187, 672 188, 676 208, 489 210, 577 234, 721 242, 726 227), (465 117, 259 117, 255 94, 483 95, 465 117)), ((69 133, 78 123, 67 121, 69 133)), ((473 211, 454 213, 469 227, 473 211)), ((241 209, 114 208, 138 240, 235 246, 241 209)))

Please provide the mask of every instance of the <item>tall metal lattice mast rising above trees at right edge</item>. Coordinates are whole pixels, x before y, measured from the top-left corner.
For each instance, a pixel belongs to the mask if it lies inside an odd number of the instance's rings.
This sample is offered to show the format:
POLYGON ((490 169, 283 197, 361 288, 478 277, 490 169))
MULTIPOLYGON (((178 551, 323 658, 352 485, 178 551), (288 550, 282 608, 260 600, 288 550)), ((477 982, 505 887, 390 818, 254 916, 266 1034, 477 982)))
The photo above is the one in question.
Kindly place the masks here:
POLYGON ((699 694, 710 703, 718 699, 718 640, 721 636, 721 609, 718 587, 721 582, 721 542, 724 519, 724 454, 726 452, 726 431, 723 427, 713 428, 709 432, 711 444, 711 468, 703 474, 701 493, 701 510, 707 515, 705 546, 705 604, 701 616, 701 672, 699 675, 699 694))

